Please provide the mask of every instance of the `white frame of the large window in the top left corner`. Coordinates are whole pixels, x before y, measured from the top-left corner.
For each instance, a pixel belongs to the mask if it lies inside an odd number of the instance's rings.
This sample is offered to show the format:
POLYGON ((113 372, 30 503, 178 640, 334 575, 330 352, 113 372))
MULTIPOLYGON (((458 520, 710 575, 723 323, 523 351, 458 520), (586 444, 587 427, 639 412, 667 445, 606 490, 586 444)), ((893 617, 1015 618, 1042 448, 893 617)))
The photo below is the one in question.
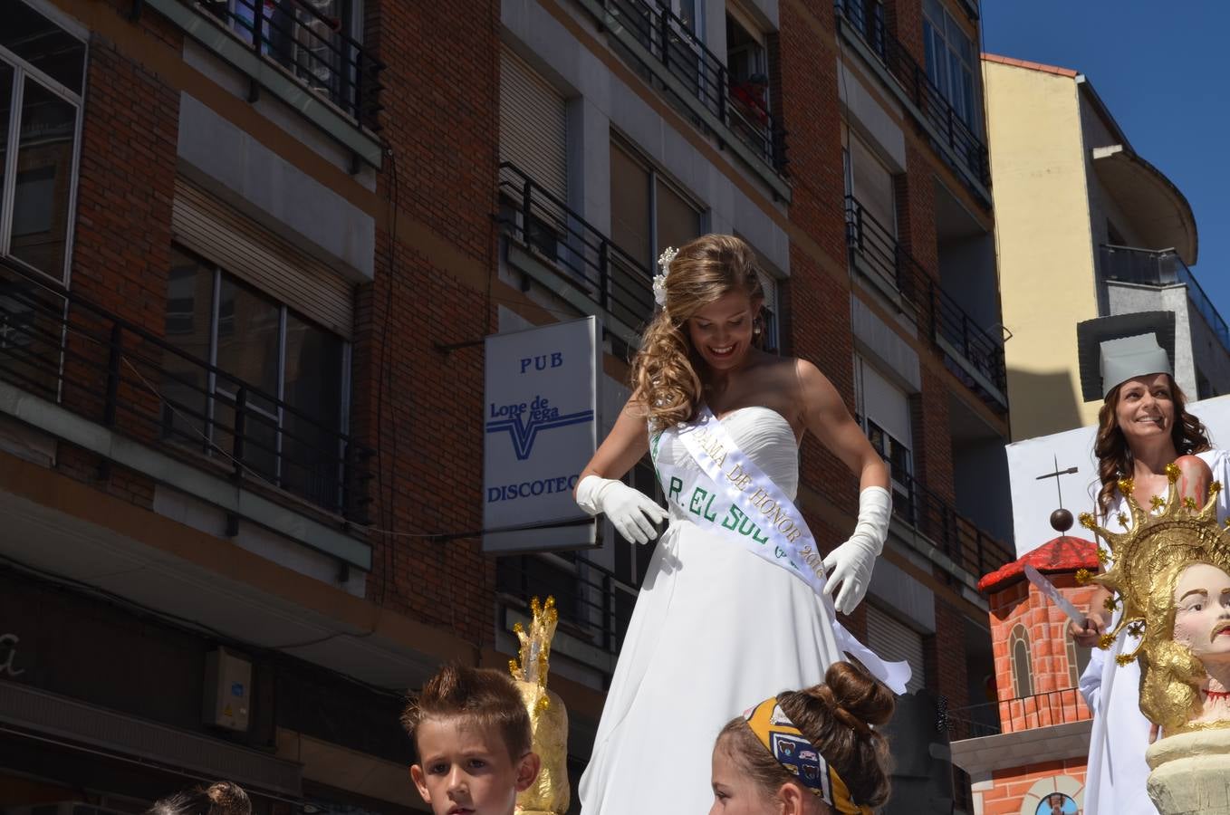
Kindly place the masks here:
POLYGON ((17 57, 17 54, 0 47, 0 61, 7 63, 14 69, 12 100, 9 104, 11 112, 9 117, 9 132, 4 134, 7 150, 4 167, 4 187, 0 188, 0 254, 14 263, 18 263, 22 268, 49 278, 68 289, 73 270, 73 238, 76 232, 77 181, 81 168, 81 128, 85 120, 85 86, 90 66, 90 42, 84 39, 74 27, 64 26, 58 16, 48 15, 42 7, 34 5, 30 5, 30 7, 47 17, 52 25, 57 26, 69 37, 81 41, 84 48, 81 55, 81 93, 65 87, 34 65, 17 57), (17 152, 21 138, 22 98, 26 92, 25 80, 27 76, 37 81, 43 90, 49 91, 76 108, 76 119, 73 125, 73 161, 69 177, 68 222, 64 230, 64 268, 60 269, 59 277, 55 277, 47 269, 33 267, 12 254, 14 200, 17 197, 17 152))

